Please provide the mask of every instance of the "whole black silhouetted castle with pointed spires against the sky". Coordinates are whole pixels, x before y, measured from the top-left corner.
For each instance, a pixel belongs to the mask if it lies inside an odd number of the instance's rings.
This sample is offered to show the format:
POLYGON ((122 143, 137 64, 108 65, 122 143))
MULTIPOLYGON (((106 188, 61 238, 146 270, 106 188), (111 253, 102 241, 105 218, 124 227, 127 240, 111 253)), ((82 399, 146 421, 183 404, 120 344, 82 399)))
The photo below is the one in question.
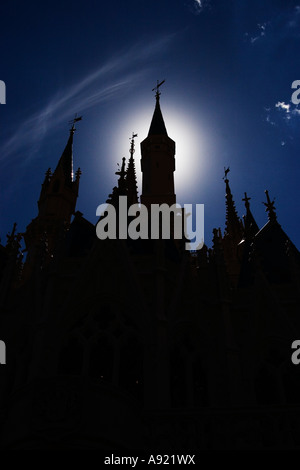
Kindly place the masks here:
MULTIPOLYGON (((246 194, 242 222, 226 171, 226 227, 211 249, 101 241, 75 212, 74 130, 37 217, 0 245, 2 448, 299 448, 300 255, 268 193, 267 223, 259 229, 246 194)), ((138 201, 133 155, 132 139, 116 207, 119 195, 138 201)), ((141 202, 173 204, 159 92, 141 155, 141 202)))

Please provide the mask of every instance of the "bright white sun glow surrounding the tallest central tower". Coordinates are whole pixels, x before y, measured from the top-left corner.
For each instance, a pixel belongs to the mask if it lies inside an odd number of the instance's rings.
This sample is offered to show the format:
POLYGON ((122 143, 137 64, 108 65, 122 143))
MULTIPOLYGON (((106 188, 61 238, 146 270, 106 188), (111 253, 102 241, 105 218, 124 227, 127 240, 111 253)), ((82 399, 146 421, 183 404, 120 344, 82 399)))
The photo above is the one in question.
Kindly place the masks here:
MULTIPOLYGON (((191 193, 197 189, 199 183, 205 181, 207 158, 204 133, 201 133, 201 124, 197 123, 199 117, 193 119, 193 115, 180 109, 180 106, 175 108, 173 105, 164 104, 161 100, 161 110, 168 136, 176 144, 174 181, 177 202, 184 203, 187 201, 183 199, 190 199, 191 193)), ((139 194, 141 194, 142 187, 140 143, 148 135, 153 112, 154 106, 145 107, 145 102, 142 102, 138 108, 127 110, 126 115, 122 114, 119 126, 116 126, 118 139, 112 145, 112 154, 117 157, 117 160, 112 161, 111 171, 116 171, 117 161, 121 162, 124 156, 126 161, 129 158, 129 138, 132 132, 138 134, 135 139, 134 158, 139 194)))

